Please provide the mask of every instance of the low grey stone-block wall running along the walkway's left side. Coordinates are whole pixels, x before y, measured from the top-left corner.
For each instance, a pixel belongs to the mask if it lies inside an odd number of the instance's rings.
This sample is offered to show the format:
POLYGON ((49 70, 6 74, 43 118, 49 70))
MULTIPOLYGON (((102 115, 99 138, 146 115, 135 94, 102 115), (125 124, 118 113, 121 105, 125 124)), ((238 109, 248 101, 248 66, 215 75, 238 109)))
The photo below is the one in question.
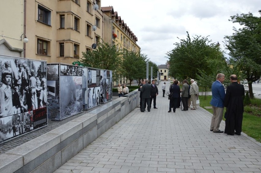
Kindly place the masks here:
POLYGON ((120 97, 0 157, 0 172, 54 172, 139 105, 139 91, 120 97))

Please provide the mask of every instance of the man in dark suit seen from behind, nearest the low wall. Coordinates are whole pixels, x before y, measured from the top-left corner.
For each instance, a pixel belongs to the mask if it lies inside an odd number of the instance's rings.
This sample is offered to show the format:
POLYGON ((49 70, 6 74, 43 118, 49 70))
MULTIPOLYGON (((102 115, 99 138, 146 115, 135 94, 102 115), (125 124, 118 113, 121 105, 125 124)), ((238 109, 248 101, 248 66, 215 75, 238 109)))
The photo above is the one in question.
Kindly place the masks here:
POLYGON ((142 92, 142 108, 141 112, 145 111, 144 105, 147 103, 147 110, 150 112, 150 90, 151 85, 148 84, 148 79, 145 80, 145 84, 142 85, 141 92, 142 92))

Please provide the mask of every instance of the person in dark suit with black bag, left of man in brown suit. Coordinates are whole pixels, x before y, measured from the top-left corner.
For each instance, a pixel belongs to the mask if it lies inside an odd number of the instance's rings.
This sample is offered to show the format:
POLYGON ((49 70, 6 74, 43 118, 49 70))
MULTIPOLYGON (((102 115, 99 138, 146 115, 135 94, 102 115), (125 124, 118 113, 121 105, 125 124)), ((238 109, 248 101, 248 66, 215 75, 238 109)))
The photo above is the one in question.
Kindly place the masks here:
POLYGON ((178 85, 179 81, 174 81, 173 85, 171 85, 171 88, 169 90, 170 93, 172 93, 172 97, 169 100, 169 111, 171 112, 171 108, 173 107, 173 112, 176 112, 176 105, 177 102, 179 101, 179 96, 180 96, 180 86, 178 85))

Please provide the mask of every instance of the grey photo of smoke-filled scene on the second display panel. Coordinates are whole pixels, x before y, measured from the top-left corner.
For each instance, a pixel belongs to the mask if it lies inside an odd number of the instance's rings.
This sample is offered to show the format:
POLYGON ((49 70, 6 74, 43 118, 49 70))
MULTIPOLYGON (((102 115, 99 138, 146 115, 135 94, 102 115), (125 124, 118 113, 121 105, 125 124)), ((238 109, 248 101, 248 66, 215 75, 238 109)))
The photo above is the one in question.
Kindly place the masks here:
POLYGON ((60 77, 60 120, 82 112, 82 77, 60 77))

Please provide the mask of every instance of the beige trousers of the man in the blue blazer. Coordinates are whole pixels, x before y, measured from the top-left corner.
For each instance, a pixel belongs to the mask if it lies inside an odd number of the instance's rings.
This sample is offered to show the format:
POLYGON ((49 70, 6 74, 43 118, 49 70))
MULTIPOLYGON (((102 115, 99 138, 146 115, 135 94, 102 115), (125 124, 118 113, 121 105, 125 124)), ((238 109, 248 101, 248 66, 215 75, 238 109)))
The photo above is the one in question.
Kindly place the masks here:
POLYGON ((219 130, 219 124, 222 121, 224 107, 212 106, 213 117, 211 119, 210 130, 217 132, 219 130))

